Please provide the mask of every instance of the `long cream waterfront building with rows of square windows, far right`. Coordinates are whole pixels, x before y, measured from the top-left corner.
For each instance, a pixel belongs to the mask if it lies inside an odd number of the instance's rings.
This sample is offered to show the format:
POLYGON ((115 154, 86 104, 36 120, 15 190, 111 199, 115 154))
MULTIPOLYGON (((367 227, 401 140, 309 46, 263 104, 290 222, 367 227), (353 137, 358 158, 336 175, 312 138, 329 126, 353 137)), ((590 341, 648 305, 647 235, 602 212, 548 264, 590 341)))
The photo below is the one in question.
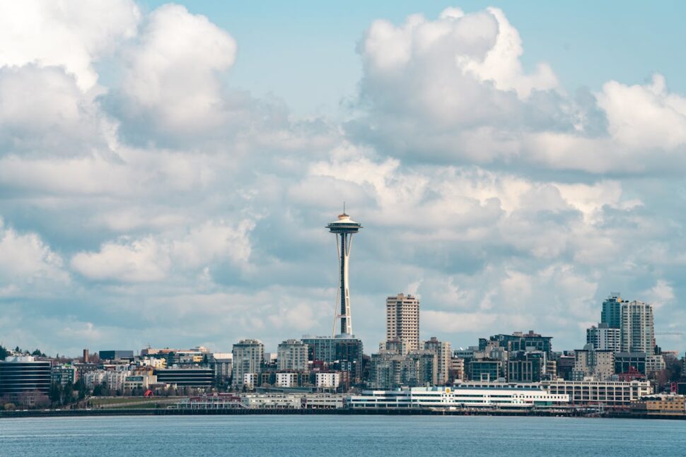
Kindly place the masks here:
POLYGON ((566 394, 572 405, 629 407, 630 403, 653 393, 649 381, 542 381, 552 394, 566 394))

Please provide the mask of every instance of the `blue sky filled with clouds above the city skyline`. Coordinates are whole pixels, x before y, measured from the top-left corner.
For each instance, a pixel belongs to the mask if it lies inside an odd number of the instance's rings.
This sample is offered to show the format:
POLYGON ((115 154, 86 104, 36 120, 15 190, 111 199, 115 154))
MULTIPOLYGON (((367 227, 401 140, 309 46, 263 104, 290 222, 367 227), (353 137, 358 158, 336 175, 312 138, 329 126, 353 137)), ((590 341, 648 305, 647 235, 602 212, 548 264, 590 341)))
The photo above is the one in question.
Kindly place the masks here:
POLYGON ((342 201, 366 352, 397 292, 456 347, 683 331, 686 7, 493 6, 2 4, 0 344, 327 334, 342 201))

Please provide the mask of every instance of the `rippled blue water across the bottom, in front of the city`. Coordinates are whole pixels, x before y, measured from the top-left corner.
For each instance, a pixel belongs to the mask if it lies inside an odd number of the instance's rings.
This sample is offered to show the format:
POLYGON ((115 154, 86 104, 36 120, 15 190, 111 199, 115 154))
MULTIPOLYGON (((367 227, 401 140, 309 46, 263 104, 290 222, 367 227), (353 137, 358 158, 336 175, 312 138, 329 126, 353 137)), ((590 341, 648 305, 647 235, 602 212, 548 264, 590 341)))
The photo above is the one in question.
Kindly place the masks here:
POLYGON ((1 456, 685 456, 686 421, 482 416, 0 419, 1 456))

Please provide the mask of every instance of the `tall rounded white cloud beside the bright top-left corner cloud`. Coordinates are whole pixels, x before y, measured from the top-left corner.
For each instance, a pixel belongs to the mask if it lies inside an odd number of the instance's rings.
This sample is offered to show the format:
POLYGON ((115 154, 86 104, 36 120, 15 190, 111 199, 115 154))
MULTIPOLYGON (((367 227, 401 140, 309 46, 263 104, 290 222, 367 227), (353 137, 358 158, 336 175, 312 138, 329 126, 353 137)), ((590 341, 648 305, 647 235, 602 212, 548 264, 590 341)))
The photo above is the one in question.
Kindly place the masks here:
POLYGON ((168 132, 208 131, 228 120, 218 73, 233 65, 236 40, 205 16, 161 6, 126 56, 129 115, 168 132))

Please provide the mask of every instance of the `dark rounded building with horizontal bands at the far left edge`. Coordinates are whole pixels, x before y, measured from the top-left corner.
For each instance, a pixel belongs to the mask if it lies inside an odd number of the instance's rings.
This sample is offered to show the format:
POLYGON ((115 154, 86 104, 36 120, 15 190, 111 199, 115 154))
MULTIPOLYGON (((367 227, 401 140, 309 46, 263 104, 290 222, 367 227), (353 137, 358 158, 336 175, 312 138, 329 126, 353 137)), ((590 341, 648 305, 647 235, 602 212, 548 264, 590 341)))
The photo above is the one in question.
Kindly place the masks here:
POLYGON ((29 391, 50 392, 50 362, 30 355, 0 361, 0 397, 29 391))

